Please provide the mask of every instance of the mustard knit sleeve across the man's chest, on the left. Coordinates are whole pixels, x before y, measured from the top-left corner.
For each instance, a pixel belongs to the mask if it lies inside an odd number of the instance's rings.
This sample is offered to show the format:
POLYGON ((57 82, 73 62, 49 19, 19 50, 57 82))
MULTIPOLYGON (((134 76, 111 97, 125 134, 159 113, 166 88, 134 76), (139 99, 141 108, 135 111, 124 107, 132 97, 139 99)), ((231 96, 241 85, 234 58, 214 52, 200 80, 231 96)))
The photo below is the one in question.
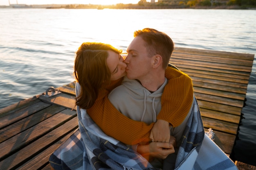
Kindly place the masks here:
POLYGON ((150 130, 154 123, 148 125, 141 121, 135 121, 121 114, 108 99, 110 90, 120 82, 112 82, 105 89, 99 91, 94 105, 87 110, 88 115, 109 135, 124 144, 135 145, 141 141, 150 141, 150 130))

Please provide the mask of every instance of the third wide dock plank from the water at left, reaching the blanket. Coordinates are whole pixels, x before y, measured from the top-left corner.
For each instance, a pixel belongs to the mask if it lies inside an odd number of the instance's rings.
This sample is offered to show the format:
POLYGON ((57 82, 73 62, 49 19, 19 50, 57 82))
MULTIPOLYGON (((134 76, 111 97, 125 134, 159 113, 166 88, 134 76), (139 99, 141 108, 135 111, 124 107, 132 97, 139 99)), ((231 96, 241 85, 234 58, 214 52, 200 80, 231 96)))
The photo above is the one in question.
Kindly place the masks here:
POLYGON ((46 119, 45 121, 42 121, 39 124, 0 143, 0 160, 8 157, 13 152, 18 151, 20 148, 27 146, 31 142, 45 135, 47 132, 60 126, 61 124, 64 124, 75 116, 76 111, 63 110, 60 113, 53 115, 49 119, 46 119))

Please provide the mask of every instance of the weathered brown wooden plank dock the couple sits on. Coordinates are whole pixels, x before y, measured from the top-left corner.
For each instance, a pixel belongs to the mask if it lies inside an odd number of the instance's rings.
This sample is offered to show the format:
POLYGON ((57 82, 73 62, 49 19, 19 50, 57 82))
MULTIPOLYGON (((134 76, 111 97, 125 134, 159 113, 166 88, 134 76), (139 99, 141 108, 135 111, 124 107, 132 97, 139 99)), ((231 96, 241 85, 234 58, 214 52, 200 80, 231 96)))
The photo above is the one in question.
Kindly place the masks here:
MULTIPOLYGON (((205 131, 231 153, 254 55, 176 48, 170 62, 193 80, 205 131)), ((0 110, 0 169, 52 170, 49 156, 77 128, 74 82, 52 97, 25 99, 0 110)), ((255 166, 237 162, 239 170, 255 166)))

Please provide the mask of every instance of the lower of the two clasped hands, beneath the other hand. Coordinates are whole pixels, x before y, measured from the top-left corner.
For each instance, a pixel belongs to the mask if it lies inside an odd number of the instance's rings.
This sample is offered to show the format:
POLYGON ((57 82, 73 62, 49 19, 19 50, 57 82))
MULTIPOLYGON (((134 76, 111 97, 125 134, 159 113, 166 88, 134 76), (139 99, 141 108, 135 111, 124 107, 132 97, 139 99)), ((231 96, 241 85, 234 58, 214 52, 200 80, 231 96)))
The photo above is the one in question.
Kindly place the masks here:
POLYGON ((137 152, 150 161, 153 157, 165 159, 169 154, 174 153, 175 150, 172 144, 151 142, 147 145, 138 145, 137 152))

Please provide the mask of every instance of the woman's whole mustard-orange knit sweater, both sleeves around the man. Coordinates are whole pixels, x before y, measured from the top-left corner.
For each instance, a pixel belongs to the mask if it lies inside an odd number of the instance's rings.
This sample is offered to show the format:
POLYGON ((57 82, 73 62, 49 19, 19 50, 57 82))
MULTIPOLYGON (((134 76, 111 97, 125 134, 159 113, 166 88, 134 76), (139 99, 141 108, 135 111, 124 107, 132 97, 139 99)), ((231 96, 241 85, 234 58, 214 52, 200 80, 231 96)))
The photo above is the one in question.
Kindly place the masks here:
MULTIPOLYGON (((157 119, 168 121, 173 127, 179 126, 185 119, 193 102, 191 78, 175 68, 165 71, 168 84, 161 98, 162 109, 157 119)), ((109 101, 108 93, 121 84, 122 79, 114 81, 106 89, 101 89, 94 105, 87 110, 95 123, 111 137, 128 145, 141 141, 150 141, 150 130, 154 123, 148 125, 134 121, 122 115, 109 101)))

